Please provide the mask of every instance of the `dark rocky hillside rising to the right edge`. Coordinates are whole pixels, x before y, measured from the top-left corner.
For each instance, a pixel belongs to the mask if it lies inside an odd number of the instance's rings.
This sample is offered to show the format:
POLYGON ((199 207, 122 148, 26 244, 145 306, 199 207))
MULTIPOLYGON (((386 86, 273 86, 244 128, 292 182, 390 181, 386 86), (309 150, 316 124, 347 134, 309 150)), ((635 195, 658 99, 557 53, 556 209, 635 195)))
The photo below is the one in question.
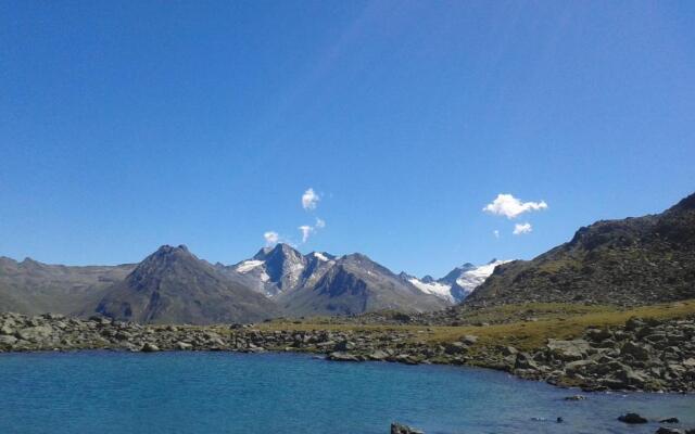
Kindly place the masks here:
POLYGON ((532 260, 502 265, 464 305, 685 298, 695 298, 695 194, 661 214, 597 221, 532 260))

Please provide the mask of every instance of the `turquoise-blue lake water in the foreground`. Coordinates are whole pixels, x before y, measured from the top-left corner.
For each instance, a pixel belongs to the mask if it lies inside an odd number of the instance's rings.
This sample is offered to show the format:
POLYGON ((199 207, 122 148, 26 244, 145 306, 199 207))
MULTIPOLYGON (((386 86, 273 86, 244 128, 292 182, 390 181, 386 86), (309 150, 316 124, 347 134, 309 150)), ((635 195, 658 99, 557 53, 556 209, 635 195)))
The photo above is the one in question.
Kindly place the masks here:
POLYGON ((695 397, 589 394, 504 373, 303 355, 0 355, 2 433, 653 433, 624 411, 695 426, 695 397), (565 423, 555 423, 563 417, 565 423), (545 418, 548 421, 533 421, 545 418))

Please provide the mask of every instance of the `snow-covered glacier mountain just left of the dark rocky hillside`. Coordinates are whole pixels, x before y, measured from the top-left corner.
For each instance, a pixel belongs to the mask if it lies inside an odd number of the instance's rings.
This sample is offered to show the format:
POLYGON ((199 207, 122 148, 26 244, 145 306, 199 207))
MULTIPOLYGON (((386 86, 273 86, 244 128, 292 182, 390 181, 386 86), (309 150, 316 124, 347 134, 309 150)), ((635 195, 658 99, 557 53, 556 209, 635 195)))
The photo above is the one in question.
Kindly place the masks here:
POLYGON ((466 263, 460 267, 454 268, 439 280, 434 280, 431 276, 417 279, 404 272, 400 275, 400 278, 408 281, 424 293, 432 294, 451 304, 456 304, 460 303, 476 288, 482 284, 482 282, 492 275, 496 266, 506 263, 508 263, 508 260, 492 259, 490 263, 479 267, 466 263))

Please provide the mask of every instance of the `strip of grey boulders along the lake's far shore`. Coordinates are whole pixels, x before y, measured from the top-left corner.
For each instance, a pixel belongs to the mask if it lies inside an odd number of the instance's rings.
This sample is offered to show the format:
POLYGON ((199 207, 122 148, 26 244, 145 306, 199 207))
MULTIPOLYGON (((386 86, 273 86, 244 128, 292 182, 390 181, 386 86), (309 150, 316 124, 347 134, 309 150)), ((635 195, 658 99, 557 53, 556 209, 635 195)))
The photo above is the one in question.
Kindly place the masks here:
POLYGON ((92 317, 0 314, 0 352, 112 349, 129 352, 302 352, 337 361, 468 365, 584 391, 695 392, 695 318, 630 319, 590 328, 581 339, 548 340, 532 352, 417 339, 412 330, 291 331, 252 324, 142 326, 92 317))

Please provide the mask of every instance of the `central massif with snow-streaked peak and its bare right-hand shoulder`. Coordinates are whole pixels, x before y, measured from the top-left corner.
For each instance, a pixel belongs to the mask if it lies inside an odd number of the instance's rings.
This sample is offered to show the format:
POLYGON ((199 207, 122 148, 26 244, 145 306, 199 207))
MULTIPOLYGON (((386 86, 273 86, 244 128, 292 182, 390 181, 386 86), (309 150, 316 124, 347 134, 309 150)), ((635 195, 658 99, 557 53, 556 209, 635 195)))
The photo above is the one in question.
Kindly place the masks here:
POLYGON ((288 316, 380 309, 422 311, 447 305, 359 254, 337 257, 312 252, 302 255, 279 243, 261 250, 251 259, 225 267, 225 272, 254 280, 251 286, 275 299, 288 316))

